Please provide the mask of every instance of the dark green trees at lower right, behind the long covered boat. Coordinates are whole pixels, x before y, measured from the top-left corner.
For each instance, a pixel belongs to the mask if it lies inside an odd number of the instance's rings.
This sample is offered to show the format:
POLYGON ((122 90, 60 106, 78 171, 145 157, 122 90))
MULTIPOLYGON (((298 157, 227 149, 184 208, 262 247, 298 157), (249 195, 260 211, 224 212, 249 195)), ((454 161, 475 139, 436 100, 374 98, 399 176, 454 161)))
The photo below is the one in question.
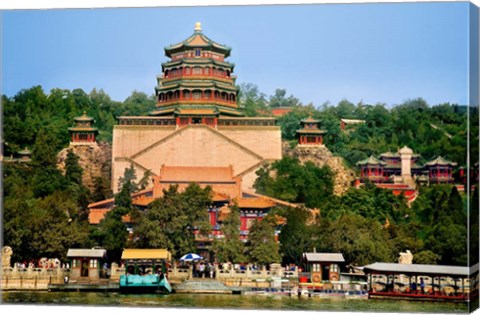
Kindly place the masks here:
MULTIPOLYGON (((303 252, 315 248, 342 252, 354 264, 394 262, 405 250, 412 251, 416 261, 467 264, 465 199, 453 185, 422 187, 409 206, 402 195, 371 183, 334 196, 328 169, 322 172, 289 157, 257 174, 257 191, 320 209, 316 221, 302 208, 279 212, 287 218, 279 237, 284 263, 298 263, 303 252)), ((476 198, 478 203, 478 194, 476 198)))

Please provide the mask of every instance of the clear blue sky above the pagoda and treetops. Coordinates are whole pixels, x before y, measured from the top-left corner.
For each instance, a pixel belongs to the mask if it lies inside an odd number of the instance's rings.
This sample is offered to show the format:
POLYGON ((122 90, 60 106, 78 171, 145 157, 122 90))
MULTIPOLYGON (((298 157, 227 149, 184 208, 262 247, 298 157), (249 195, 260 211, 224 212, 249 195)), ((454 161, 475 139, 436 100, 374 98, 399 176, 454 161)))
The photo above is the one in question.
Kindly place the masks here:
POLYGON ((163 48, 195 22, 232 48, 237 83, 302 103, 468 102, 467 2, 2 12, 2 93, 154 93, 163 48))

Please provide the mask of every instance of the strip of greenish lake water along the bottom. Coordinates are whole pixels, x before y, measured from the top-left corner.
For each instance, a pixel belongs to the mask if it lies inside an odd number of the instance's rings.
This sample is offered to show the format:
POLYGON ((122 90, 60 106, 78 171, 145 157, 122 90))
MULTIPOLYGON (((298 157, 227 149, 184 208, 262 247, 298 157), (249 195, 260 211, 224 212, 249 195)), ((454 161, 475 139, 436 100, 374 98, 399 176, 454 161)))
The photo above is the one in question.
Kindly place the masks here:
MULTIPOLYGON (((88 305, 137 308, 195 308, 380 313, 467 313, 464 303, 393 300, 347 300, 221 294, 126 295, 111 292, 2 292, 2 303, 25 305, 88 305)), ((105 309, 105 308, 103 308, 105 309)), ((3 313, 3 312, 2 312, 3 313)), ((111 312, 106 312, 110 314, 111 312)), ((165 312, 159 312, 159 314, 165 312)), ((172 312, 169 312, 171 314, 172 312)), ((134 312, 132 313, 134 314, 134 312)), ((134 314, 135 315, 135 314, 134 314)))

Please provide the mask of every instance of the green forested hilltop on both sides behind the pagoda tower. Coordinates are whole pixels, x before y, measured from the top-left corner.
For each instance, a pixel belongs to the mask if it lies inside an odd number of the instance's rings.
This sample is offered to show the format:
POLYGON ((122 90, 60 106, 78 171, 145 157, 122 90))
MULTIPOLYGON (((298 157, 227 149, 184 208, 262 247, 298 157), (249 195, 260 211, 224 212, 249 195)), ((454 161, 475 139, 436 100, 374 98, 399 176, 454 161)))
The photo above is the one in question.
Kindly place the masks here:
MULTIPOLYGON (((300 120, 309 115, 321 121, 328 131, 327 147, 342 156, 352 166, 371 154, 396 151, 404 145, 421 155, 421 162, 442 155, 446 159, 465 165, 467 125, 470 122, 471 143, 478 143, 478 110, 455 104, 427 104, 422 99, 405 101, 386 107, 384 104, 353 104, 347 100, 339 104, 302 104, 278 89, 272 96, 261 93, 253 84, 240 86, 239 105, 247 116, 270 116, 276 107, 291 107, 280 117, 284 140, 294 140, 300 120), (340 119, 362 119, 346 131, 340 129, 340 119)), ((40 86, 22 90, 11 98, 2 97, 5 156, 25 146, 32 147, 41 129, 53 134, 55 149, 69 141, 67 128, 73 117, 86 111, 96 120, 100 129, 98 139, 111 141, 116 117, 121 115, 147 115, 155 107, 154 96, 134 91, 123 102, 112 101, 102 90, 90 93, 82 89, 53 89, 47 94, 40 86)), ((472 147, 471 156, 478 156, 478 146, 472 147)))

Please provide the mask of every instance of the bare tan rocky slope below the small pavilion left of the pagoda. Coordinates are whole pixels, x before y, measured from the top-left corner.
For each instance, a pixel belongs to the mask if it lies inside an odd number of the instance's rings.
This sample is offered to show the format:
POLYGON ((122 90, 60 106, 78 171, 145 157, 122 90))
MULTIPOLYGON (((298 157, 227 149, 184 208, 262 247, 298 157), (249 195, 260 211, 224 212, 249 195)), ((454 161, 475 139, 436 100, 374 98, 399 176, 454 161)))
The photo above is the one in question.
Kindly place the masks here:
POLYGON ((62 172, 65 172, 65 160, 69 150, 72 150, 79 157, 78 164, 83 168, 82 182, 90 191, 94 189, 94 179, 96 177, 110 179, 112 146, 109 143, 70 144, 57 156, 57 166, 62 172))

